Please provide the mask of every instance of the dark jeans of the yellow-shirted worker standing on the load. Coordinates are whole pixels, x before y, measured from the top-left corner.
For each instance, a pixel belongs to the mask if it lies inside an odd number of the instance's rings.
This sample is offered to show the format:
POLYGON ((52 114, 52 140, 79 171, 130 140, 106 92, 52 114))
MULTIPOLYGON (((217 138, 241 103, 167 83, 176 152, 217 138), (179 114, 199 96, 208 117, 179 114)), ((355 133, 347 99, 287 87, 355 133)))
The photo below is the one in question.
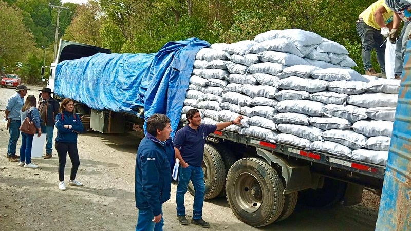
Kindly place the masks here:
POLYGON ((385 73, 385 43, 384 36, 380 34, 380 30, 377 30, 371 26, 368 26, 364 22, 357 22, 356 29, 358 35, 360 35, 362 43, 361 57, 364 64, 364 70, 367 71, 372 67, 371 65, 371 51, 372 48, 376 49, 377 61, 380 64, 382 73, 385 73), (382 45, 382 46, 381 46, 382 45))

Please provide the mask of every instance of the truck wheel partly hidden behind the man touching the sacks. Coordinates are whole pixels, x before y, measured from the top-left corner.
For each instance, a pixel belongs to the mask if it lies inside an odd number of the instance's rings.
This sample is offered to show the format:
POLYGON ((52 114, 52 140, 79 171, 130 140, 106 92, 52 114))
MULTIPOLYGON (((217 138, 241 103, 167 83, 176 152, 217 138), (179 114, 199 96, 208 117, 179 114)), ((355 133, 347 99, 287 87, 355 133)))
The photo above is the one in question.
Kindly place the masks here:
MULTIPOLYGON (((220 153, 218 153, 214 146, 210 144, 204 145, 204 157, 201 167, 204 172, 204 184, 206 184, 204 199, 215 198, 224 187, 226 169, 220 153)), ((194 186, 191 181, 189 182, 188 190, 191 195, 195 195, 194 186)))

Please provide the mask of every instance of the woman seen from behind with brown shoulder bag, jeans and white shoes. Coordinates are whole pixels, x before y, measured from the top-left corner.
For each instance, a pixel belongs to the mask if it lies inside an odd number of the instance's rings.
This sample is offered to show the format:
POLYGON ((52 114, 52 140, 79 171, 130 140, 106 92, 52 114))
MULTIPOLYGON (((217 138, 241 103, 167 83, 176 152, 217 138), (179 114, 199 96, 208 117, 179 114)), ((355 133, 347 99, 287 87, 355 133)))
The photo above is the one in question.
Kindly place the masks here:
MULTIPOLYGON (((24 120, 26 120, 26 117, 28 117, 34 123, 34 126, 38 131, 37 136, 40 137, 42 130, 40 128, 40 114, 39 110, 36 108, 36 104, 37 100, 34 95, 29 95, 20 112, 20 125, 22 125, 24 120)), ((38 168, 37 165, 31 163, 31 145, 33 144, 34 135, 26 134, 24 132, 20 133, 22 134, 22 146, 20 147, 20 163, 18 163, 18 166, 38 168)))

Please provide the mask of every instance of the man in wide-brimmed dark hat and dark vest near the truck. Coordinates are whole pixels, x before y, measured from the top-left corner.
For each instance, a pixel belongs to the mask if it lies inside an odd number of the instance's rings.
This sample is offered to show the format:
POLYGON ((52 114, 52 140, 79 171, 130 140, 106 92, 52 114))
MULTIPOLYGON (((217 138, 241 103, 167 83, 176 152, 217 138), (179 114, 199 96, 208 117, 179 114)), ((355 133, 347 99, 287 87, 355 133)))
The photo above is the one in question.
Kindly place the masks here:
POLYGON ((59 113, 60 104, 57 100, 51 97, 50 88, 43 87, 41 91, 42 100, 39 102, 39 112, 41 120, 42 133, 46 133, 46 156, 44 159, 51 158, 51 151, 53 148, 53 132, 55 124, 55 116, 59 113))

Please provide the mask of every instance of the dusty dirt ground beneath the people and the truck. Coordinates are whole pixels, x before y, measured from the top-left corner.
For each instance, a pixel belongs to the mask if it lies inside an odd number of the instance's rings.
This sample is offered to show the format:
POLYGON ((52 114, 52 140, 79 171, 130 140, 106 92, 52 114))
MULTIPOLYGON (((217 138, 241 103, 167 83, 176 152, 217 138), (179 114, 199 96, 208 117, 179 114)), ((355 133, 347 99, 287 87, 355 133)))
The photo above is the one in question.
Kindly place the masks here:
MULTIPOLYGON (((40 87, 30 86, 38 96, 40 87)), ((14 90, 0 89, 0 116, 14 90)), ((0 124, 0 230, 134 230, 138 210, 134 201, 134 167, 140 133, 122 135, 87 132, 79 136, 80 168, 77 179, 84 187, 58 188, 58 158, 33 158, 38 169, 18 167, 6 159, 9 138, 0 124)), ((55 137, 55 134, 54 134, 55 137)), ((20 147, 20 139, 17 148, 20 147)), ((67 160, 65 181, 71 163, 67 160)), ((176 184, 163 204, 164 230, 203 230, 176 220, 176 184)), ((192 214, 193 197, 186 194, 187 213, 192 214)), ((344 207, 313 209, 298 206, 286 220, 263 230, 374 230, 379 197, 364 191, 363 203, 344 207)), ((188 217, 191 218, 191 217, 188 217)), ((225 198, 207 200, 203 208, 209 230, 259 230, 239 221, 225 198)))

